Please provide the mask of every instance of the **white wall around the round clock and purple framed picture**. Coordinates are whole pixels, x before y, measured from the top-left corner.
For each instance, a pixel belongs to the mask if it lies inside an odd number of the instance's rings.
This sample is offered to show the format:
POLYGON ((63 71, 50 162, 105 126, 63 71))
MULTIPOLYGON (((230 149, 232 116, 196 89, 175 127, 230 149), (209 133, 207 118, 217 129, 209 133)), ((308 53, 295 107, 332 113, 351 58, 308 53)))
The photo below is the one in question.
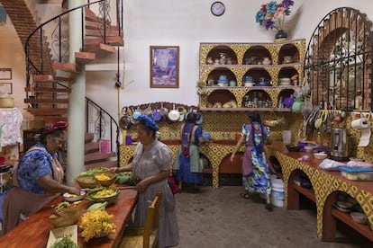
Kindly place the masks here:
MULTIPOLYGON (((220 17, 210 13, 213 2, 124 0, 125 44, 120 61, 123 63, 125 59, 124 84, 132 83, 120 90, 118 98, 114 88, 115 64, 111 72, 90 71, 87 73, 88 97, 106 106, 114 116, 124 105, 146 102, 196 105, 200 42, 272 42, 275 35, 275 31, 266 31, 255 22, 260 4, 269 1, 226 0, 223 1, 226 11, 220 17), (180 47, 178 89, 150 88, 151 45, 180 47)), ((368 18, 373 20, 373 9, 367 8, 369 5, 369 0, 296 0, 286 24, 287 32, 290 39, 306 39, 308 42, 318 22, 332 9, 349 6, 364 12, 370 11, 368 18)), ((120 70, 122 74, 123 64, 120 70)))

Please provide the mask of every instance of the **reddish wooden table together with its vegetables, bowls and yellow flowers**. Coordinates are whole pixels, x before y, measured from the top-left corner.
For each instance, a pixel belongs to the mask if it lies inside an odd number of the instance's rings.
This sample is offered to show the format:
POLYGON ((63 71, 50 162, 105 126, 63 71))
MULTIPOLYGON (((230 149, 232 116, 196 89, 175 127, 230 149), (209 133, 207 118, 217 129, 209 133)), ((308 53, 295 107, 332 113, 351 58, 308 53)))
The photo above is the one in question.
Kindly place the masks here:
POLYGON ((0 247, 51 247, 62 242, 66 235, 67 241, 76 242, 79 247, 117 247, 136 204, 137 190, 113 184, 105 176, 97 179, 103 181, 99 182, 101 187, 89 180, 85 177, 78 181, 86 193, 81 196, 65 193, 53 199, 2 236, 0 247), (97 225, 96 218, 102 218, 97 225), (105 229, 103 221, 107 222, 105 229))

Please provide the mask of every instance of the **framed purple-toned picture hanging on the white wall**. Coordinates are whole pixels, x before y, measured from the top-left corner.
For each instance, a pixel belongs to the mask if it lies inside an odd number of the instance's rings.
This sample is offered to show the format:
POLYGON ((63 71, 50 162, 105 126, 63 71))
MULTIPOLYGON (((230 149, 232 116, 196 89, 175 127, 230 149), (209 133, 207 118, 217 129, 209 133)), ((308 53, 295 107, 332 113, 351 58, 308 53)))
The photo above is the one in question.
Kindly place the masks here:
POLYGON ((150 46, 150 88, 178 88, 178 68, 178 46, 150 46))

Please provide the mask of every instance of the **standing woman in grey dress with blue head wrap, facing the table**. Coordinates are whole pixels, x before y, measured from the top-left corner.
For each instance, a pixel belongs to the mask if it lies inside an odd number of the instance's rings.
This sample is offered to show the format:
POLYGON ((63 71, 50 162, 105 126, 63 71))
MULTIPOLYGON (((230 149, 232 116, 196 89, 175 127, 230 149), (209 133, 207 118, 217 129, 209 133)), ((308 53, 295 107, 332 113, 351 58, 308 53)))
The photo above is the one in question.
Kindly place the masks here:
POLYGON ((132 162, 114 171, 132 171, 140 182, 136 187, 139 198, 136 205, 133 226, 144 226, 147 209, 158 191, 162 192, 159 208, 159 248, 178 244, 179 235, 175 199, 168 186, 168 175, 171 170, 172 152, 167 145, 156 138, 157 124, 149 116, 141 114, 136 120, 137 137, 132 162))

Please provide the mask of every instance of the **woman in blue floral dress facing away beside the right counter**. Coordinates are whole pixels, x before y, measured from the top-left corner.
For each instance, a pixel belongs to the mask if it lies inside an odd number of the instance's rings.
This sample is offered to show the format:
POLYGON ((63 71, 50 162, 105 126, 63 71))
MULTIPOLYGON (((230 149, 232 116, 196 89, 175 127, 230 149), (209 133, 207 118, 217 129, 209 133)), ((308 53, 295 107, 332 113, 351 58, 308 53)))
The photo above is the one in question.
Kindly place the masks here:
POLYGON ((241 193, 241 197, 249 199, 252 193, 264 194, 266 195, 266 208, 272 211, 269 164, 264 151, 268 129, 262 125, 258 112, 251 112, 249 119, 250 124, 242 126, 241 137, 231 155, 231 162, 244 143, 246 148, 242 157, 242 185, 245 192, 241 193))

